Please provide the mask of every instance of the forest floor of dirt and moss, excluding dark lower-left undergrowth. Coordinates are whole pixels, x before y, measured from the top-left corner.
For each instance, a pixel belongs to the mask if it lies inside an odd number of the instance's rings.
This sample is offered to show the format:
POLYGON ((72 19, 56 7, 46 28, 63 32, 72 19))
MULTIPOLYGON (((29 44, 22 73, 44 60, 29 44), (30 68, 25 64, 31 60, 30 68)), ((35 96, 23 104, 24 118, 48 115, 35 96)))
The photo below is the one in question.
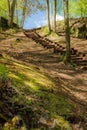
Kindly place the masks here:
MULTIPOLYGON (((65 130, 87 130, 87 70, 65 65, 59 54, 43 48, 23 32, 12 35, 5 32, 0 38, 0 63, 10 71, 9 77, 15 80, 17 92, 32 102, 27 101, 39 122, 37 130, 43 130, 43 125, 46 130, 61 130, 62 127, 65 130), (61 123, 60 117, 68 120, 71 127, 64 121, 61 123)), ((65 43, 64 36, 47 38, 65 43)), ((86 40, 72 38, 71 43, 81 51, 87 49, 86 40)))

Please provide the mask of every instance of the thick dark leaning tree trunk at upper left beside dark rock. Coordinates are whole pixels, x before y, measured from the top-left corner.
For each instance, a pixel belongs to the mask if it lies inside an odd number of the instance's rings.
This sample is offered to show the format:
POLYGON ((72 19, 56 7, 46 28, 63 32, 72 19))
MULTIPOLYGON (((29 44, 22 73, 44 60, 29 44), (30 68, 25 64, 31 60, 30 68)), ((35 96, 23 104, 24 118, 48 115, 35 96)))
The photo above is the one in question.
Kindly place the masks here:
POLYGON ((9 27, 13 26, 15 5, 16 5, 16 0, 13 0, 11 7, 10 7, 10 14, 9 14, 9 21, 8 21, 9 27))

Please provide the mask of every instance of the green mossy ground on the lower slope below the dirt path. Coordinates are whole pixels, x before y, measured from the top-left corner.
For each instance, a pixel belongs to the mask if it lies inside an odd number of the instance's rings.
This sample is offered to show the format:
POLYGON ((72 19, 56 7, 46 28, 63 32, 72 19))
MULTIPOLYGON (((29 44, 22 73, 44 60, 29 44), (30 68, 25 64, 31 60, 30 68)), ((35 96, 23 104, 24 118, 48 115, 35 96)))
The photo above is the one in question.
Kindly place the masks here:
MULTIPOLYGON (((75 104, 71 104, 65 96, 60 94, 60 86, 55 86, 49 75, 8 56, 1 58, 0 61, 6 65, 3 67, 3 74, 8 72, 12 87, 17 92, 17 95, 13 95, 9 100, 13 104, 26 104, 25 106, 32 109, 35 113, 35 122, 32 127, 35 127, 35 124, 38 127, 39 123, 44 129, 46 128, 44 125, 52 127, 53 124, 55 128, 71 129, 65 115, 68 117, 73 114, 75 104), (45 123, 41 122, 42 118, 45 123), (55 120, 56 123, 54 123, 55 120)), ((18 109, 17 114, 22 115, 22 111, 18 109)))

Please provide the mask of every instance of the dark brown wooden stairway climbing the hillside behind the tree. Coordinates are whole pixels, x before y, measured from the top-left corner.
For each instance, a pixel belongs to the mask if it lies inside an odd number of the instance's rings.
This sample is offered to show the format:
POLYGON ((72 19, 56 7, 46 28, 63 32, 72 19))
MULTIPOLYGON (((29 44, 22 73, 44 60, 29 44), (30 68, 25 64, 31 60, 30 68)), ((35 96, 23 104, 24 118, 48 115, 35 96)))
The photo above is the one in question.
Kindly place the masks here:
MULTIPOLYGON (((35 30, 24 31, 24 34, 34 40, 36 43, 41 44, 44 48, 53 49, 53 53, 64 55, 66 48, 58 42, 53 42, 45 37, 40 36, 35 30)), ((79 52, 75 48, 71 48, 71 60, 79 68, 87 69, 87 53, 79 52)))

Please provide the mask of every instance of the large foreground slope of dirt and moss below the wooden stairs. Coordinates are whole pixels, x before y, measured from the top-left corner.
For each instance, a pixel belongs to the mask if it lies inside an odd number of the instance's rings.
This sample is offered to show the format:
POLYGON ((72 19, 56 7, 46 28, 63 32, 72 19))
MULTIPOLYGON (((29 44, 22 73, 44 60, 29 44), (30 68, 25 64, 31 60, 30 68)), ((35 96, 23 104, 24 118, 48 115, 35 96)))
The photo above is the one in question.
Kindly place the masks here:
POLYGON ((0 129, 86 130, 87 73, 22 32, 6 36, 0 42, 0 129))

